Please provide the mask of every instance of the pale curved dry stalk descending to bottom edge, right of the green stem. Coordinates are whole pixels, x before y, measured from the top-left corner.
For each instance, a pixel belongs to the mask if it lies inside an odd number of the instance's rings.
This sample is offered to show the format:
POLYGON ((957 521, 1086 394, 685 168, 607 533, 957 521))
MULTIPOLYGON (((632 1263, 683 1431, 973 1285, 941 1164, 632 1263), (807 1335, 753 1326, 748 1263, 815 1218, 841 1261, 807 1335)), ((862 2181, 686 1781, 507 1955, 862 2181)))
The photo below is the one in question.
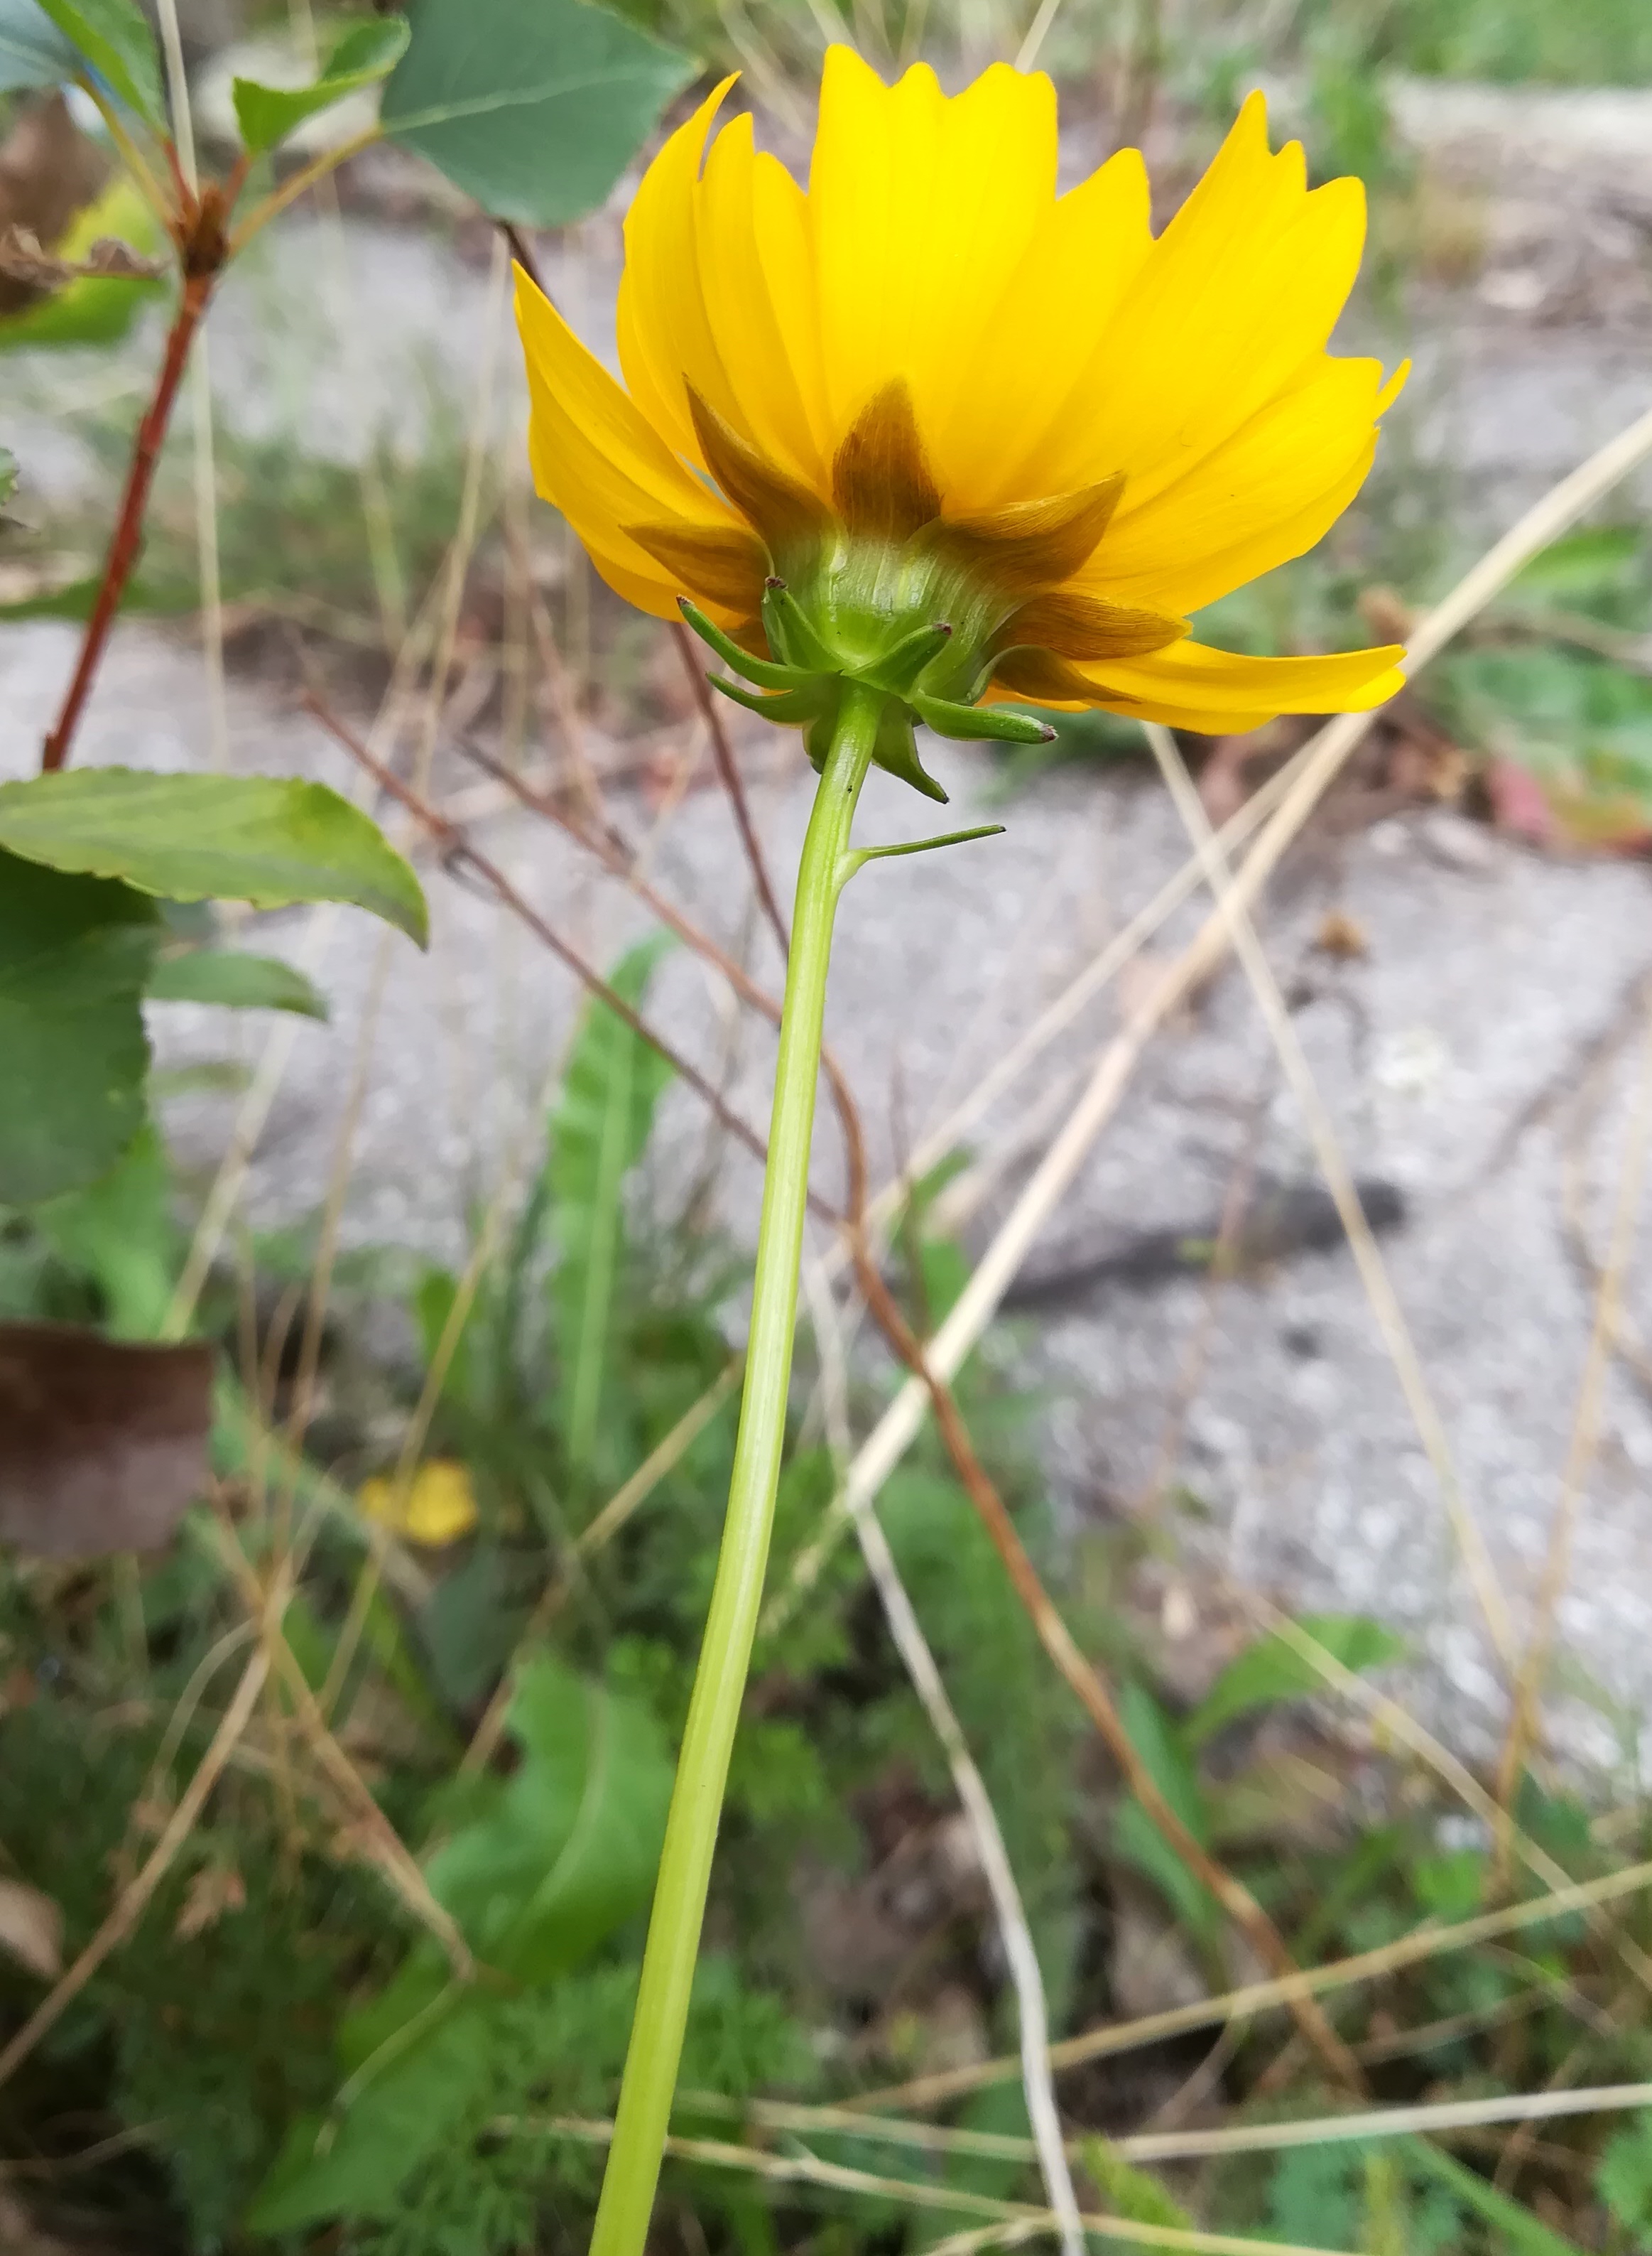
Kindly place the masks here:
MULTIPOLYGON (((832 1290, 816 1261, 805 1261, 805 1288, 809 1293, 809 1308, 820 1349, 827 1435, 838 1464, 843 1464, 850 1439, 847 1367, 838 1315, 832 1306, 832 1290)), ((1064 2256, 1080 2256, 1084 2247, 1084 2229, 1080 2224, 1073 2173, 1068 2170, 1066 2148, 1062 2143, 1062 2116, 1055 2107, 1055 2085, 1050 2080, 1050 2008, 1043 1997, 1043 1974, 1039 1969, 1039 1954, 1032 1942, 1025 1906, 1021 1904, 1021 1888, 1016 1886, 1014 1868, 1010 1866, 1010 1852, 1003 1845, 998 1812, 992 1807, 987 1782, 976 1766, 976 1757, 969 1753, 969 1742, 965 1739, 953 1703, 947 1699, 947 1685, 942 1683, 935 1656, 929 1649, 929 1638, 920 1627, 911 1593, 902 1581, 902 1570, 895 1563, 888 1536, 870 1512, 861 1514, 854 1532, 861 1539, 861 1557, 865 1559, 865 1570, 883 1609, 883 1620, 888 1622, 895 1651, 902 1656, 902 1667, 906 1669, 924 1715, 929 1717, 929 1728, 940 1739, 953 1789, 969 1821, 969 1832, 976 1843, 980 1870, 987 1879, 987 1893, 992 1895, 992 1909, 998 1920, 1003 1956, 1016 1994, 1016 2015, 1021 2021, 1021 2087, 1025 2091, 1028 2121, 1032 2123, 1034 2134, 1032 2150, 1039 2159, 1039 2170, 1043 2173, 1043 2191, 1050 2200, 1050 2209, 1059 2220, 1057 2229, 1064 2256)))

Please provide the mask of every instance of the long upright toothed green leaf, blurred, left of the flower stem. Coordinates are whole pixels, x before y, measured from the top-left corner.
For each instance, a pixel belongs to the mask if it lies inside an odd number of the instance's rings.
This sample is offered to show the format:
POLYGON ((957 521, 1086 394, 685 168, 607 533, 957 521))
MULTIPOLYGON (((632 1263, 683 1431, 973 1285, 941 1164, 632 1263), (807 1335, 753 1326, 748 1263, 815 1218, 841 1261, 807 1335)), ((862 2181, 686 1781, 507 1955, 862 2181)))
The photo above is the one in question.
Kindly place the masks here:
MULTIPOLYGON (((663 938, 645 941, 609 975, 609 986, 633 1008, 647 995, 665 945, 663 938)), ((581 1471, 604 1471, 595 1453, 624 1257, 624 1178, 642 1157, 667 1081, 660 1054, 593 999, 568 1054, 545 1162, 557 1239, 550 1302, 561 1428, 568 1457, 581 1471)))

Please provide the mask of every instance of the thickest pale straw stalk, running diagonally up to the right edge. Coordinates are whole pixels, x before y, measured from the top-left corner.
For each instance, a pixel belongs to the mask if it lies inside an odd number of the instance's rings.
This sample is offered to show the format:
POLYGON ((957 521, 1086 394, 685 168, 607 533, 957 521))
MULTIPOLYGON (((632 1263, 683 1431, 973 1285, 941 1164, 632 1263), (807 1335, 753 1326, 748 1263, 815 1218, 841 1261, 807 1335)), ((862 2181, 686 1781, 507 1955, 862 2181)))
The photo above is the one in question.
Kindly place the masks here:
MULTIPOLYGON (((1503 535, 1469 573, 1436 605, 1418 625, 1411 641, 1411 672, 1415 675, 1436 656, 1454 634, 1458 634, 1521 569, 1539 548, 1557 539, 1566 526, 1584 514, 1602 494, 1611 492, 1636 462, 1652 453, 1652 411, 1636 417, 1627 431, 1589 456, 1571 476, 1562 478, 1542 501, 1530 508, 1510 532, 1503 535)), ((1267 828, 1246 855, 1235 884, 1233 902, 1251 907, 1269 882, 1303 823, 1318 805, 1321 796, 1348 760, 1350 751, 1373 726, 1377 713, 1343 713, 1312 740, 1300 758, 1289 787, 1267 828)), ((958 1295, 947 1322, 929 1342, 929 1363, 942 1378, 951 1378, 980 1333, 992 1322, 1010 1279, 1021 1268, 1032 1241, 1048 1223, 1050 1214, 1066 1196, 1084 1155, 1118 1108, 1125 1087, 1176 1004, 1190 995, 1222 961, 1228 945, 1228 918, 1213 911, 1199 934, 1181 957, 1154 981, 1138 1002, 1125 1026, 1102 1049, 1084 1092, 1034 1169, 1014 1207, 1005 1216, 987 1252, 976 1263, 969 1284, 958 1295)), ((892 1469, 911 1448, 924 1424, 929 1392, 917 1378, 908 1378, 879 1424, 861 1444, 850 1478, 845 1482, 843 1512, 861 1498, 872 1498, 892 1469)), ((787 1590, 769 1609, 769 1627, 789 1611, 809 1588, 820 1570, 832 1543, 841 1534, 843 1512, 836 1527, 827 1525, 820 1539, 793 1561, 787 1590)))

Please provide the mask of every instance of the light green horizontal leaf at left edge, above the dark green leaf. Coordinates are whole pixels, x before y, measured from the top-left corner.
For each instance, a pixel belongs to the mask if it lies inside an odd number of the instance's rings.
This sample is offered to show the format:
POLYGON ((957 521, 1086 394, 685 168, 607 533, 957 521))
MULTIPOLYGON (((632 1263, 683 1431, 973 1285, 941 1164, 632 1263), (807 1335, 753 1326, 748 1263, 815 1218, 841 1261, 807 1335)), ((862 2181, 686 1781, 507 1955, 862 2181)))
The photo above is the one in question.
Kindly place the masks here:
POLYGON ((424 948, 419 880, 325 783, 79 767, 0 783, 0 846, 165 900, 347 900, 424 948))

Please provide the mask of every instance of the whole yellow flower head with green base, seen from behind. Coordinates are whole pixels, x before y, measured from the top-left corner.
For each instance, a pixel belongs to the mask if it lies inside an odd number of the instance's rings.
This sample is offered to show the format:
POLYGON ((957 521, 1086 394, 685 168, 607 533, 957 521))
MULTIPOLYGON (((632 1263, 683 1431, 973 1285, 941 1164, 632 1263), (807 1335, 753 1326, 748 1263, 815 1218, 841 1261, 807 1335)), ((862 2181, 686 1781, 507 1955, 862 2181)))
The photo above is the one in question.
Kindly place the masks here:
POLYGON ((1370 469, 1404 370, 1325 352, 1364 190, 1309 190, 1262 95, 1154 237, 1136 149, 1057 196, 1055 88, 962 95, 832 47, 802 190, 712 138, 723 81, 624 228, 624 388, 518 273, 532 462, 620 596, 678 607, 807 729, 886 695, 877 758, 933 796, 913 715, 1046 733, 1021 706, 1181 729, 1391 697, 1402 652, 1253 659, 1190 614, 1300 555, 1370 469))

